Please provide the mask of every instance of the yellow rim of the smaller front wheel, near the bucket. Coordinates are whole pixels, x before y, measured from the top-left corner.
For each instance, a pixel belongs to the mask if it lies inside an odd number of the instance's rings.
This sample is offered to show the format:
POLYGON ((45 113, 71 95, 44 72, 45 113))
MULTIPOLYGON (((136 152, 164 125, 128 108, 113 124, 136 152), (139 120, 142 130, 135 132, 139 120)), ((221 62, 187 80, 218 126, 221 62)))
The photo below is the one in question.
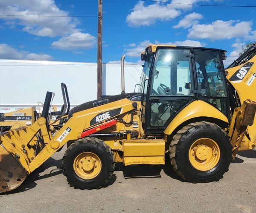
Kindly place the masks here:
POLYGON ((102 162, 96 154, 85 152, 76 156, 73 167, 80 178, 89 180, 99 175, 102 162))

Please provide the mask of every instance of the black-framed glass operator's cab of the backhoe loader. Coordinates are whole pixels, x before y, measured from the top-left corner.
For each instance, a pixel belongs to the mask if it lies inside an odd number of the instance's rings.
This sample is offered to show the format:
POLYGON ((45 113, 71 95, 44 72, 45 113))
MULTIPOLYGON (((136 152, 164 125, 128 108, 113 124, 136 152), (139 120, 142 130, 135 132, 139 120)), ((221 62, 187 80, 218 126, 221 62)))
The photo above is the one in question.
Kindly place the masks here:
POLYGON ((230 118, 224 50, 150 45, 141 76, 143 128, 162 134, 184 107, 202 100, 230 118))

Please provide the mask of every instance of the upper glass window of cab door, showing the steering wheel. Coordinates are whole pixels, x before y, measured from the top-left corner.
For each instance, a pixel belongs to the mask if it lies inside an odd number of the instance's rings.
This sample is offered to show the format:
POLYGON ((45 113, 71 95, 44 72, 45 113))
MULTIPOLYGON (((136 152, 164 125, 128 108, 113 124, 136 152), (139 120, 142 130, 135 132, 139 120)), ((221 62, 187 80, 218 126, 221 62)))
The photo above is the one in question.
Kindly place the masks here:
POLYGON ((189 50, 160 49, 153 68, 150 95, 193 95, 191 91, 191 65, 189 50))

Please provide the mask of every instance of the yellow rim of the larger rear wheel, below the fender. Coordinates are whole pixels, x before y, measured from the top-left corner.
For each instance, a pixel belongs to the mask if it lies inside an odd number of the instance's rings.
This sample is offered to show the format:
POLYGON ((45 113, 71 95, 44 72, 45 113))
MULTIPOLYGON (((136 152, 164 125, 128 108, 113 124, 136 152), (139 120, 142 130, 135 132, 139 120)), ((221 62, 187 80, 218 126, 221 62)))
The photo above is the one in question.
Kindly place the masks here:
POLYGON ((189 148, 189 161, 195 169, 200 171, 214 168, 220 156, 218 144, 210 138, 200 138, 189 148))

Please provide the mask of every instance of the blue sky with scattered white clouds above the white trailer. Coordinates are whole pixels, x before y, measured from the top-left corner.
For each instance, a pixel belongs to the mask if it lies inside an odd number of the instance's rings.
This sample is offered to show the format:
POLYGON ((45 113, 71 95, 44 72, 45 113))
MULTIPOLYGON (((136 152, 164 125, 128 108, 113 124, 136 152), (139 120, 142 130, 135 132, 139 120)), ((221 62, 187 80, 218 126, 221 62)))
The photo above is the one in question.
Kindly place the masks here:
MULTIPOLYGON (((149 43, 169 43, 226 49, 229 64, 256 40, 256 7, 187 5, 256 6, 253 0, 163 2, 103 0, 103 63, 119 63, 122 54, 139 63, 149 43)), ((0 58, 96 62, 97 17, 69 16, 97 16, 97 6, 97 0, 0 0, 0 58)))

